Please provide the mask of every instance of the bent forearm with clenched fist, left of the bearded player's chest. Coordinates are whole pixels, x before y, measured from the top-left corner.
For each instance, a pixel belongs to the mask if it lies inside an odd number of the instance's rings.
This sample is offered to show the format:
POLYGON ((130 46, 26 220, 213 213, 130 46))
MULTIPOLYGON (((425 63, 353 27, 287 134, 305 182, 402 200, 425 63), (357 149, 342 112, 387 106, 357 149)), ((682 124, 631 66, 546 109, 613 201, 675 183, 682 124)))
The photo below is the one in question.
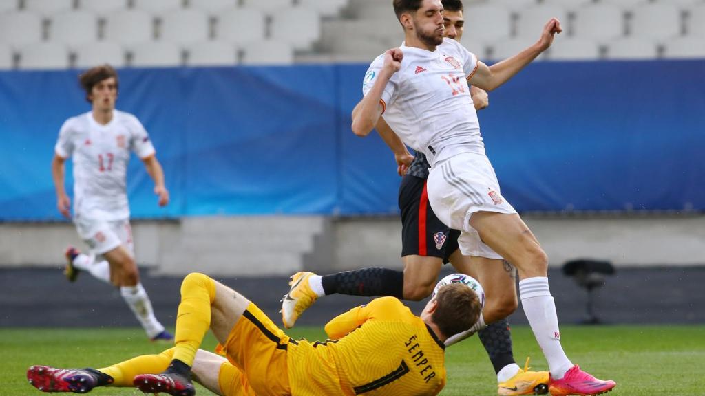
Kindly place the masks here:
POLYGON ((401 68, 401 60, 404 57, 401 49, 388 49, 384 53, 384 66, 379 70, 379 76, 372 86, 372 89, 362 98, 360 104, 355 106, 357 111, 353 111, 353 133, 357 136, 367 136, 384 112, 381 105, 382 93, 389 79, 401 68))

